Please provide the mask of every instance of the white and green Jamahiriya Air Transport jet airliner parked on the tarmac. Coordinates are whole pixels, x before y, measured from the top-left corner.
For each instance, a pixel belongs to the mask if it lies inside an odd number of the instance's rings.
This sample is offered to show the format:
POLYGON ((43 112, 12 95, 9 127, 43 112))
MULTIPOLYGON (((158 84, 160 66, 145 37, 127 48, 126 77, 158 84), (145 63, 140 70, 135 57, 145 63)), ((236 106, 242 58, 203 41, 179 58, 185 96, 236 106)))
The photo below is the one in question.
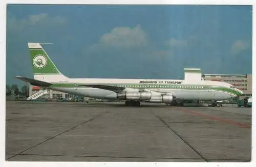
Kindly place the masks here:
POLYGON ((243 92, 222 81, 189 79, 69 78, 52 62, 42 43, 28 43, 34 78, 14 76, 30 85, 91 98, 172 104, 177 100, 226 100, 243 92))

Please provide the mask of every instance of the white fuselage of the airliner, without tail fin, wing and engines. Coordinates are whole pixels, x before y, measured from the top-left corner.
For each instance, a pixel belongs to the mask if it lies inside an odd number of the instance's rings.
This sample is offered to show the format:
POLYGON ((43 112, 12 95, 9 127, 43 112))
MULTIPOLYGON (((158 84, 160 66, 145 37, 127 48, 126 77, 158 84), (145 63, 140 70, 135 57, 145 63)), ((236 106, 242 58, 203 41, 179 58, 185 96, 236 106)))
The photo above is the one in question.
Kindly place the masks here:
POLYGON ((44 75, 44 78, 35 76, 35 79, 53 83, 52 90, 79 94, 92 98, 116 99, 117 93, 110 90, 77 87, 79 84, 101 84, 117 87, 124 87, 124 91, 146 89, 157 92, 169 92, 175 95, 176 99, 182 100, 225 100, 236 97, 242 91, 230 88, 230 84, 220 81, 200 80, 189 82, 187 80, 170 79, 104 79, 104 78, 65 78, 57 75, 44 75), (142 82, 142 83, 141 83, 142 82))

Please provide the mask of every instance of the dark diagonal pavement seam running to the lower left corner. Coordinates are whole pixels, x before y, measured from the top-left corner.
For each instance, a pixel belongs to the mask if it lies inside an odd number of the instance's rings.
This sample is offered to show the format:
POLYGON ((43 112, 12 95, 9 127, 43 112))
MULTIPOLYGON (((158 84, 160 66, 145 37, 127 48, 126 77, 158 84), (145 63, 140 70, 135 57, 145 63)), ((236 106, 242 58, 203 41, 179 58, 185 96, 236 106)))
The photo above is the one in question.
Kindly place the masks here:
POLYGON ((20 154, 24 153, 25 151, 28 151, 28 150, 30 150, 30 149, 36 147, 36 146, 39 146, 39 145, 41 145, 41 144, 43 144, 43 143, 45 143, 45 142, 47 142, 47 141, 49 141, 49 140, 52 140, 53 138, 55 138, 55 137, 57 137, 57 136, 59 136, 59 135, 61 135, 61 134, 63 134, 63 133, 66 133, 66 132, 68 132, 68 131, 70 131, 70 130, 73 130, 73 129, 77 128, 78 126, 81 126, 82 124, 85 124, 85 123, 87 123, 87 122, 89 122, 89 121, 92 121, 92 120, 94 120, 94 119, 96 119, 96 118, 98 118, 98 117, 100 117, 100 116, 102 116, 102 115, 104 115, 104 114, 106 114, 106 113, 109 113, 109 112, 104 112, 104 113, 102 113, 102 114, 100 114, 100 115, 97 115, 97 116, 95 116, 95 117, 93 117, 93 118, 91 118, 91 119, 89 119, 89 120, 83 121, 82 123, 80 123, 80 124, 78 124, 78 125, 75 125, 75 126, 69 128, 69 129, 65 130, 65 131, 62 131, 62 132, 60 132, 60 133, 58 133, 58 134, 56 134, 56 135, 54 135, 54 136, 52 136, 52 137, 49 137, 49 138, 47 138, 46 140, 44 140, 44 141, 42 141, 42 142, 40 142, 40 143, 38 143, 38 144, 36 144, 36 145, 34 145, 34 146, 31 146, 31 147, 29 147, 29 148, 27 148, 27 149, 25 149, 25 150, 23 150, 23 151, 21 151, 21 152, 19 152, 19 153, 17 153, 17 154, 14 154, 13 156, 7 158, 6 160, 8 160, 8 159, 10 159, 10 158, 13 158, 13 157, 15 157, 15 156, 17 156, 17 155, 20 155, 20 154))

